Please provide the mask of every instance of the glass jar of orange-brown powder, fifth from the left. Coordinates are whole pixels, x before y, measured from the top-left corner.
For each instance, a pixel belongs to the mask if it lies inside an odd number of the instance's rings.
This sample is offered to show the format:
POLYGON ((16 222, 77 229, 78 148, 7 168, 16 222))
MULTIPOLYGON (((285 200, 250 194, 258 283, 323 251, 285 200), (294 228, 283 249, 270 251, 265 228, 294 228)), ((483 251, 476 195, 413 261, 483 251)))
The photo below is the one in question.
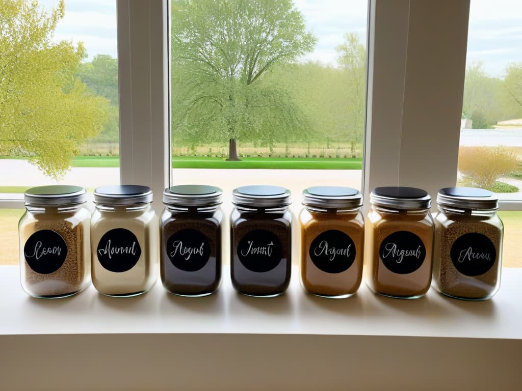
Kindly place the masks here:
POLYGON ((362 279, 362 194, 348 187, 310 187, 303 191, 303 205, 299 215, 303 288, 316 296, 352 296, 362 279))

